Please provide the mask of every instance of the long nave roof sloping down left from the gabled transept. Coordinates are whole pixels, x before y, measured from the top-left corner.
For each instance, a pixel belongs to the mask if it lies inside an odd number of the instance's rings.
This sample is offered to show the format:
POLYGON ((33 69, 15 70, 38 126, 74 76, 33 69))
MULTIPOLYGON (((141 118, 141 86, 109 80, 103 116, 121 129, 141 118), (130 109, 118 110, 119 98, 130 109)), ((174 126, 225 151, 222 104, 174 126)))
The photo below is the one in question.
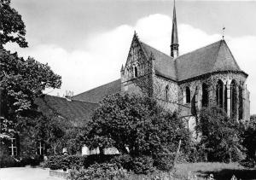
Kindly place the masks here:
POLYGON ((96 87, 95 89, 85 91, 79 95, 73 96, 72 99, 98 103, 102 101, 104 96, 114 94, 119 91, 121 91, 121 79, 96 87))

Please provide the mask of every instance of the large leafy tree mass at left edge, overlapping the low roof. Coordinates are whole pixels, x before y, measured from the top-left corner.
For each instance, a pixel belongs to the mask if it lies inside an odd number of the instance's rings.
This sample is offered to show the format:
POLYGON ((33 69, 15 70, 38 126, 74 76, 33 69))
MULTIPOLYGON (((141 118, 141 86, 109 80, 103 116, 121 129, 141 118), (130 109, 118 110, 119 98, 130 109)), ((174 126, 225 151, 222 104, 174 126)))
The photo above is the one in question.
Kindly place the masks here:
POLYGON ((34 100, 45 88, 60 88, 61 77, 50 67, 29 57, 0 50, 1 134, 8 136, 27 125, 29 119, 38 117, 34 100), (4 127, 4 128, 2 128, 4 127))

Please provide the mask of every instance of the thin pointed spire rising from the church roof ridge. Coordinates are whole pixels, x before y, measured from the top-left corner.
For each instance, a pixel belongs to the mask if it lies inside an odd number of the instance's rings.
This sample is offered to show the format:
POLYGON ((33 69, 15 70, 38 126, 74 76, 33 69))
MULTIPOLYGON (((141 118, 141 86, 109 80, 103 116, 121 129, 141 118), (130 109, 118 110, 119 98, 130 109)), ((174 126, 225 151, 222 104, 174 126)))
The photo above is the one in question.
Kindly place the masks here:
POLYGON ((172 57, 178 56, 177 17, 176 17, 175 0, 174 0, 173 15, 172 15, 171 56, 172 57))

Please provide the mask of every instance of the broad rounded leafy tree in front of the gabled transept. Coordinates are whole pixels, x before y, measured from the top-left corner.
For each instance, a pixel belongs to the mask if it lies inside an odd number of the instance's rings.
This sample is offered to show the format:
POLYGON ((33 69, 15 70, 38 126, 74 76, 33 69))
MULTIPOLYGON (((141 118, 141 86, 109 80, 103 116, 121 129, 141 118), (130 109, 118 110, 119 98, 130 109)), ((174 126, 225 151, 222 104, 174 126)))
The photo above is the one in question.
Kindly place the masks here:
POLYGON ((121 154, 173 152, 180 139, 183 148, 189 141, 189 131, 176 114, 167 113, 148 97, 128 94, 105 97, 88 127, 85 144, 90 148, 115 147, 121 154))

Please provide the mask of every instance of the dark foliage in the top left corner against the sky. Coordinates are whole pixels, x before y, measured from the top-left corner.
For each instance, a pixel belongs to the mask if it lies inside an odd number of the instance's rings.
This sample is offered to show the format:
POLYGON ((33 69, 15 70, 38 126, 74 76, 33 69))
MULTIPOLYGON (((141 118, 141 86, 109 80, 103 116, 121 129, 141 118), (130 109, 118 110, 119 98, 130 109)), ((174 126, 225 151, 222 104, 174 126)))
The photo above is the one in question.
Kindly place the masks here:
POLYGON ((27 47, 25 24, 21 15, 10 7, 10 0, 0 0, 0 49, 8 42, 27 47))

